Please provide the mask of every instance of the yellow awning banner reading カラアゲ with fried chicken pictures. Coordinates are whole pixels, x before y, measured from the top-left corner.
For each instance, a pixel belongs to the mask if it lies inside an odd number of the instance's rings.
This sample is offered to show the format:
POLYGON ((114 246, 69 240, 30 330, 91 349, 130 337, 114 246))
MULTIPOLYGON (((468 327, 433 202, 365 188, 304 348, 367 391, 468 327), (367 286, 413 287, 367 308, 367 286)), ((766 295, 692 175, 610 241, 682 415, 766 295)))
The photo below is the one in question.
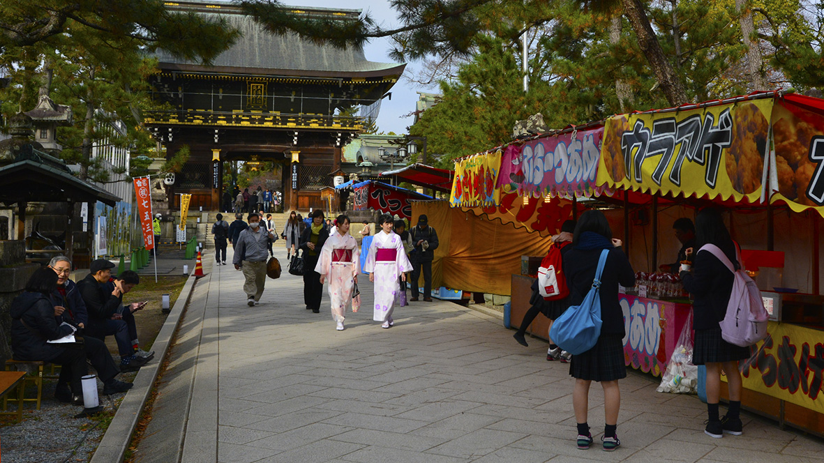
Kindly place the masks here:
POLYGON ((644 193, 761 201, 771 99, 606 121, 597 185, 644 193))

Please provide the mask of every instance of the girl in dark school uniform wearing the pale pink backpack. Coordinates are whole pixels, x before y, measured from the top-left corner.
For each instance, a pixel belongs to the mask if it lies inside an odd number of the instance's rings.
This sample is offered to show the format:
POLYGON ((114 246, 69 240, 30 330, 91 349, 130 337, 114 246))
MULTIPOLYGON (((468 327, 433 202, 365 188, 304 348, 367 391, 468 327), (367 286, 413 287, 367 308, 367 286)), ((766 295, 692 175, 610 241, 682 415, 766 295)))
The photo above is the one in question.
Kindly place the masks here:
POLYGON ((692 303, 695 330, 695 348, 692 362, 707 368, 707 414, 709 421, 705 433, 710 437, 723 437, 724 433, 740 436, 742 423, 741 409, 742 380, 738 372, 738 361, 750 357, 750 349, 729 344, 721 338, 719 322, 724 319, 730 293, 733 292, 733 273, 729 271, 709 250, 701 250, 705 245, 718 246, 727 259, 738 269, 736 245, 729 236, 727 227, 718 209, 705 208, 695 217, 695 244, 699 251, 695 254, 692 273, 681 272, 684 289, 695 298, 692 303), (721 372, 727 374, 729 389, 729 410, 719 419, 719 394, 721 372))

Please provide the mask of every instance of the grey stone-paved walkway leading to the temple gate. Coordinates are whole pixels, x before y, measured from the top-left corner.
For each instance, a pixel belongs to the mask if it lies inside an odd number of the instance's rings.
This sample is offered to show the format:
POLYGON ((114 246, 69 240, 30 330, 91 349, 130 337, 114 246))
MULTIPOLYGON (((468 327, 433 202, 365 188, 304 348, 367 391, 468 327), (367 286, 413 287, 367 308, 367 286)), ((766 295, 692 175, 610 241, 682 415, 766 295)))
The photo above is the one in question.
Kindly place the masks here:
POLYGON ((522 348, 500 320, 437 300, 397 309, 382 330, 363 275, 364 308, 335 331, 328 297, 321 314, 306 311, 302 278, 285 272, 282 248, 277 256, 283 276, 255 307, 241 272, 207 269, 136 461, 177 461, 164 447, 221 463, 824 461, 822 440, 751 414, 743 436, 707 437, 695 396, 660 394, 634 372, 620 381, 621 447, 601 450, 593 384, 595 444, 578 450, 573 380, 545 361, 545 343, 522 348), (177 430, 162 427, 172 422, 177 430))

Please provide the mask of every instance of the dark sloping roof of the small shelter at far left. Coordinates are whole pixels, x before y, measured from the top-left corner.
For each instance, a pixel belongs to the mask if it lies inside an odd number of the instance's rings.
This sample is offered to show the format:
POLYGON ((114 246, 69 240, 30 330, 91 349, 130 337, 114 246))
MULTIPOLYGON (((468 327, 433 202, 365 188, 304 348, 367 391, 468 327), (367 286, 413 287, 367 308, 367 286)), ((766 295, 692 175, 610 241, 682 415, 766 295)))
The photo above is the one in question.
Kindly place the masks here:
POLYGON ((62 161, 36 150, 21 152, 15 161, 0 167, 0 203, 29 201, 101 203, 114 206, 120 199, 105 189, 72 175, 62 161))

